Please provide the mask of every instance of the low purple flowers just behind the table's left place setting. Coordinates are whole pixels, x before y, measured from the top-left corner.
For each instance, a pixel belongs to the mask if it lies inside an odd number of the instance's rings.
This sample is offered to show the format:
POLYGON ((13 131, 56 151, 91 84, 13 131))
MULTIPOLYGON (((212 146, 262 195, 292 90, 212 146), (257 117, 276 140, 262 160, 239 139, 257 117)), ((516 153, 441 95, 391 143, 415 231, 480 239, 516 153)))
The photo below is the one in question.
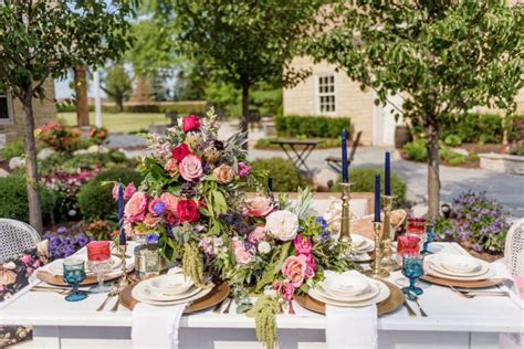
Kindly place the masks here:
POLYGON ((50 260, 65 258, 94 240, 84 233, 69 234, 65 226, 60 226, 56 232, 46 232, 43 237, 49 240, 50 260))

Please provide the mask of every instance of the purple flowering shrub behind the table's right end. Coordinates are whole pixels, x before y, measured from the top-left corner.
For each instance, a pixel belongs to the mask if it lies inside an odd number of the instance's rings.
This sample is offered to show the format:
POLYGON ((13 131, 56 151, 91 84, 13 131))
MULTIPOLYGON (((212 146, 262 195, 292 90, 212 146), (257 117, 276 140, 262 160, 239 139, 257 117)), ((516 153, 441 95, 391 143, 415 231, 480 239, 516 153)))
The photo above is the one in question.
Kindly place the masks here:
POLYGON ((460 194, 453 201, 452 218, 436 220, 437 237, 460 241, 476 252, 500 253, 504 250, 510 223, 507 212, 485 192, 471 191, 460 194))

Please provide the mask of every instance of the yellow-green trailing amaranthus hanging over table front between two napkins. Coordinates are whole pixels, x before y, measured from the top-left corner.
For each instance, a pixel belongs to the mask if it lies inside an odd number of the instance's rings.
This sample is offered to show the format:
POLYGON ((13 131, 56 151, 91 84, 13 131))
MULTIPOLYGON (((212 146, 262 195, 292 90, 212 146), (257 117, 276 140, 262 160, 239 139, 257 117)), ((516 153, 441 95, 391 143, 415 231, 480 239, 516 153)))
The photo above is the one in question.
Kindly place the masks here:
POLYGON ((265 343, 268 349, 276 348, 276 320, 275 315, 280 311, 279 302, 275 297, 263 295, 259 297, 254 306, 247 313, 254 317, 256 326, 256 339, 265 343))

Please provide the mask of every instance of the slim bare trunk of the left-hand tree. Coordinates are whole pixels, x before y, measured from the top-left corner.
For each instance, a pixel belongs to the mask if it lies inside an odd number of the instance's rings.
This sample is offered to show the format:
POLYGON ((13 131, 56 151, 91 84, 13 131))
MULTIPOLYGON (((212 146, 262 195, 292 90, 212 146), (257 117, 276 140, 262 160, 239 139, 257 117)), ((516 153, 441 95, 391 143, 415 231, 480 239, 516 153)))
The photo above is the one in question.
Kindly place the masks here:
POLYGON ((41 233, 42 224, 42 208, 39 191, 39 173, 36 168, 36 147, 34 142, 34 117, 33 117, 33 94, 32 86, 25 87, 23 95, 23 112, 25 114, 25 180, 28 183, 28 201, 29 201, 29 222, 41 233))

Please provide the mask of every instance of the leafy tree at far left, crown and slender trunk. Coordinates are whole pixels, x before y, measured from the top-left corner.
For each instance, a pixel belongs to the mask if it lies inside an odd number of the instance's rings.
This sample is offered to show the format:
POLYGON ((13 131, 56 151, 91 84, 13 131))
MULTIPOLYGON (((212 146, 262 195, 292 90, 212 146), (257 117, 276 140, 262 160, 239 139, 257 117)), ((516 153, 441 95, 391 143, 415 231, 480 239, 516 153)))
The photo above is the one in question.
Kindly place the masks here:
POLYGON ((3 0, 0 6, 0 78, 23 105, 30 223, 42 231, 34 145, 33 97, 45 80, 77 65, 117 59, 129 43, 127 18, 136 3, 3 0))

